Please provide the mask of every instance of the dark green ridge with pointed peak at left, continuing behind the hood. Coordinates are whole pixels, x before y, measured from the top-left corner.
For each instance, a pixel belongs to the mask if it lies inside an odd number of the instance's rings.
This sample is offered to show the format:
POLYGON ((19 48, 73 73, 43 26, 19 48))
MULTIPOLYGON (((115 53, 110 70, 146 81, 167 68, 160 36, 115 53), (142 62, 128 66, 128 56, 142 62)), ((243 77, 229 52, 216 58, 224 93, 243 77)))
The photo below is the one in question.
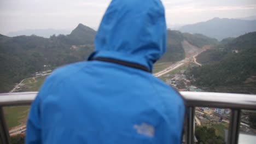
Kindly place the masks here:
MULTIPOLYGON (((70 34, 51 35, 50 38, 0 35, 0 92, 10 91, 14 83, 44 70, 44 65, 56 68, 85 61, 94 51, 95 34, 94 29, 80 23, 70 34)), ((201 34, 168 30, 167 50, 160 62, 182 60, 185 57, 182 45, 184 40, 200 48, 217 41, 201 34)))

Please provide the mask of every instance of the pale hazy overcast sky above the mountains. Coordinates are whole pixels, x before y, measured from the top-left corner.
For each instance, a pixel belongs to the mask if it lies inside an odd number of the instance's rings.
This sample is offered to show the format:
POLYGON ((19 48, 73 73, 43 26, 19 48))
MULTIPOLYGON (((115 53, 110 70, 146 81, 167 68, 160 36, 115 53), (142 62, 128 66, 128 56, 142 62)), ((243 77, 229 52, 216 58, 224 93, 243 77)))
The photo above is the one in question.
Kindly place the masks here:
MULTIPOLYGON (((145 0, 147 2, 147 0, 145 0)), ((162 0, 168 25, 256 15, 256 0, 162 0)), ((24 29, 97 28, 110 0, 0 0, 0 33, 24 29)))

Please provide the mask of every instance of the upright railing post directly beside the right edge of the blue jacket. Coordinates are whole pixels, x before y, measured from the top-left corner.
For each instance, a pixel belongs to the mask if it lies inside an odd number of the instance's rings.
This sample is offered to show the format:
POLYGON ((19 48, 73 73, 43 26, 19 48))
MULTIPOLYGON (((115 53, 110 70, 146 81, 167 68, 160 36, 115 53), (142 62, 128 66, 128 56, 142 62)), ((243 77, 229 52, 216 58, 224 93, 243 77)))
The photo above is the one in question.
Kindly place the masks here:
POLYGON ((195 130, 195 107, 188 107, 185 117, 185 142, 194 143, 195 130))

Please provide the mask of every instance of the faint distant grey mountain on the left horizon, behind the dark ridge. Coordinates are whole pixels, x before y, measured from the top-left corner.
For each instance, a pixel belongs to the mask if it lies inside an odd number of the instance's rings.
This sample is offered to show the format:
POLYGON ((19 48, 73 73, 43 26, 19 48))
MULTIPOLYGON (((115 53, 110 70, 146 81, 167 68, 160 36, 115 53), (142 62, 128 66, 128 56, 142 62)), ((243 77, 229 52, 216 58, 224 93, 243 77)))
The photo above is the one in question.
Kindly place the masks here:
POLYGON ((9 32, 7 35, 8 37, 16 37, 19 35, 38 35, 40 37, 44 37, 44 38, 50 38, 51 35, 59 35, 59 34, 69 34, 71 31, 69 31, 68 29, 53 29, 53 28, 49 28, 49 29, 26 29, 23 31, 16 31, 16 32, 9 32))

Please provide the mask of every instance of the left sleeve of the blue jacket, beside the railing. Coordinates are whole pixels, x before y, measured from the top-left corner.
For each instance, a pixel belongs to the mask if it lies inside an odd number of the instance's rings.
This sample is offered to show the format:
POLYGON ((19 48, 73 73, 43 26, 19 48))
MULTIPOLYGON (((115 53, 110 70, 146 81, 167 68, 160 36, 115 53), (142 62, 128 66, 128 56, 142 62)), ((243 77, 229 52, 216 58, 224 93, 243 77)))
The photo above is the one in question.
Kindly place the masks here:
POLYGON ((40 98, 39 94, 34 99, 27 119, 26 144, 40 144, 42 125, 40 123, 40 98))

